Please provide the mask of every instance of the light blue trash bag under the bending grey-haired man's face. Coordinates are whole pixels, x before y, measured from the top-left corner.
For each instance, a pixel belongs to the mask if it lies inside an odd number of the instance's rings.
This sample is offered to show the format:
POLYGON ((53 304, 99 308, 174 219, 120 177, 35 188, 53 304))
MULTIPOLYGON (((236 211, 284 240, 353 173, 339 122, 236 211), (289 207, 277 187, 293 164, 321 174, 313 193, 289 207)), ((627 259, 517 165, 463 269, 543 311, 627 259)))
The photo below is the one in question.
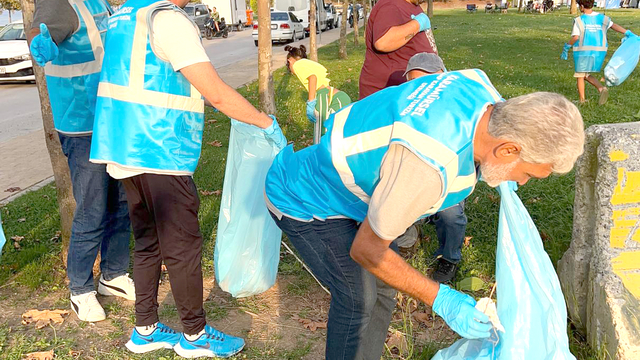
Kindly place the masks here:
POLYGON ((575 360, 558 275, 515 183, 502 183, 496 254, 498 317, 505 332, 461 339, 433 360, 575 360))

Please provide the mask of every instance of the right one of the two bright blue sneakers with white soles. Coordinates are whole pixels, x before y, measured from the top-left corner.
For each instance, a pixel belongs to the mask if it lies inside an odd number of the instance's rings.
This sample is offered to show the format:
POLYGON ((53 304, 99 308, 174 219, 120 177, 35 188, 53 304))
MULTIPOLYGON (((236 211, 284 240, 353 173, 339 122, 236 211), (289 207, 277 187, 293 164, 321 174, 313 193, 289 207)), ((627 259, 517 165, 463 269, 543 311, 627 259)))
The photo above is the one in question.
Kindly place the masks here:
POLYGON ((182 334, 180 341, 173 350, 184 358, 197 357, 229 357, 239 353, 244 348, 244 340, 227 335, 212 328, 204 327, 204 334, 194 341, 189 341, 182 334))

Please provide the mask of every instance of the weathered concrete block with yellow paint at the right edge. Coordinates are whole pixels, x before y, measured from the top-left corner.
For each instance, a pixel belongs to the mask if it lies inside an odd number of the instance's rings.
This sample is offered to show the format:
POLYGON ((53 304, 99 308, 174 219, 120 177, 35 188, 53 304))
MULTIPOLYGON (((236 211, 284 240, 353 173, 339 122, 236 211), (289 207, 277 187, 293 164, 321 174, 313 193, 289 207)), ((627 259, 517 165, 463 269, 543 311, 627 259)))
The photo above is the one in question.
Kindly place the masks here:
POLYGON ((569 316, 611 359, 640 359, 640 123, 587 130, 573 238, 558 264, 569 316))

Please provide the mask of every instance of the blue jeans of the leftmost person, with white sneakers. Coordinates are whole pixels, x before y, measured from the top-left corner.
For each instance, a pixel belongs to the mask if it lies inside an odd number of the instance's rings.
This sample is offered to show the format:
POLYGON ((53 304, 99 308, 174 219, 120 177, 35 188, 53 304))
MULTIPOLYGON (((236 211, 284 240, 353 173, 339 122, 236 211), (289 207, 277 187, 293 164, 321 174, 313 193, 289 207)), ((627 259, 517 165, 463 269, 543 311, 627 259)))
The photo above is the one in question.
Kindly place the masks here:
POLYGON ((130 221, 127 197, 106 166, 89 162, 91 136, 58 134, 67 157, 76 212, 71 227, 67 276, 71 295, 93 291, 93 263, 101 254, 100 270, 112 280, 129 269, 130 221))

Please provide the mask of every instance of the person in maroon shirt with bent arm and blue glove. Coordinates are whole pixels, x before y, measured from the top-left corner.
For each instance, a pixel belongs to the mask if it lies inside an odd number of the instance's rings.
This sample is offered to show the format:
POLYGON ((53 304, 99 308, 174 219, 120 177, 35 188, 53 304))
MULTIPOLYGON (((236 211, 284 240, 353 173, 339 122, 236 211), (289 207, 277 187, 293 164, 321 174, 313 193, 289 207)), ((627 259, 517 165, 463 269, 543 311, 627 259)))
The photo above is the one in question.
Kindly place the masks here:
POLYGON ((406 81, 409 59, 421 52, 438 53, 422 0, 380 0, 371 10, 366 30, 367 52, 360 72, 360 99, 406 81))

